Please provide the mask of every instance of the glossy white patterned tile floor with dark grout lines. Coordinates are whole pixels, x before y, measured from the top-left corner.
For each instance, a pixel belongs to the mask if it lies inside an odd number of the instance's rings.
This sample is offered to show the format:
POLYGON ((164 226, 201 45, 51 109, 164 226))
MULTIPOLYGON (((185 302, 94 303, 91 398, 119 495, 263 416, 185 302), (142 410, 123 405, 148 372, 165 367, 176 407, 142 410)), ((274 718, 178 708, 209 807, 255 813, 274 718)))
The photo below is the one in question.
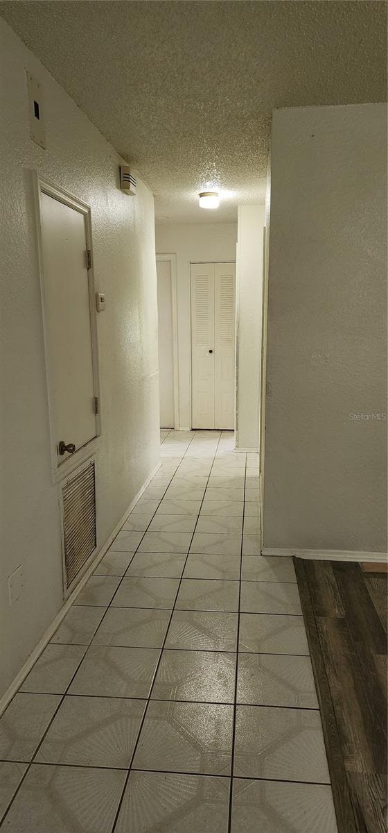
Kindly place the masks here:
POLYGON ((335 833, 292 561, 258 455, 161 431, 162 466, 0 721, 12 833, 335 833))

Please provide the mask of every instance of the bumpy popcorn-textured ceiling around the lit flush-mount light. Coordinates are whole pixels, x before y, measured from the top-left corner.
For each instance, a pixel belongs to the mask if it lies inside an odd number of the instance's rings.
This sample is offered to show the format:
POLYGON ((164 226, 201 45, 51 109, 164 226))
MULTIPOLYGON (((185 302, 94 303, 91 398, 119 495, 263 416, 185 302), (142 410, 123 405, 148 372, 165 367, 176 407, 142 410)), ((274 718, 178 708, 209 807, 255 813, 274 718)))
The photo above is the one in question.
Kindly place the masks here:
POLYGON ((170 221, 224 222, 263 201, 274 107, 386 99, 384 2, 29 0, 0 13, 170 221), (209 185, 217 212, 198 207, 209 185))

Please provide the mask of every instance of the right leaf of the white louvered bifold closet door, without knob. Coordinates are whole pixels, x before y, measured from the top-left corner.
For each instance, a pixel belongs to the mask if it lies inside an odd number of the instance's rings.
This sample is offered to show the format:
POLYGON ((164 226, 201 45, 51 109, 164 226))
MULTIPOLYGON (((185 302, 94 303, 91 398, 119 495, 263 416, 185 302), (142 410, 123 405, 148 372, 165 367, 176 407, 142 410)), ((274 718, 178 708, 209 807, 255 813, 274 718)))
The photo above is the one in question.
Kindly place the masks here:
POLYGON ((214 264, 214 428, 234 428, 235 263, 214 264))

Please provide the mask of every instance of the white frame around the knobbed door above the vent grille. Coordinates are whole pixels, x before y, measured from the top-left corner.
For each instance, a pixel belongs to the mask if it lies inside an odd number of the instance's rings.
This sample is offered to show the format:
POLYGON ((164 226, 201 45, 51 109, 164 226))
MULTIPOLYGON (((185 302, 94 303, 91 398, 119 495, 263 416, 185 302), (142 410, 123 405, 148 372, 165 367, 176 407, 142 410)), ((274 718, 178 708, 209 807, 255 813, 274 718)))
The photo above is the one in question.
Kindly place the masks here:
POLYGON ((71 471, 74 471, 91 455, 96 453, 100 445, 101 436, 101 397, 100 397, 100 374, 98 365, 98 342, 97 342, 97 322, 96 322, 96 295, 95 282, 93 271, 93 249, 91 238, 91 207, 86 202, 81 202, 78 197, 74 197, 71 193, 66 192, 63 188, 57 186, 54 182, 50 182, 43 177, 40 177, 37 171, 32 172, 33 176, 33 192, 35 201, 35 219, 37 232, 37 257, 39 267, 39 277, 41 284, 42 297, 42 321, 43 321, 43 338, 45 348, 45 362, 46 362, 46 377, 47 377, 47 397, 48 397, 48 419, 50 430, 50 446, 52 456, 52 482, 58 483, 68 476, 71 471), (45 274, 43 267, 43 242, 42 242, 42 205, 41 193, 53 197, 64 205, 75 209, 85 217, 86 229, 86 248, 91 252, 91 267, 88 268, 88 283, 89 283, 89 307, 91 312, 91 357, 93 363, 93 382, 95 396, 99 401, 99 412, 96 414, 96 436, 77 450, 71 457, 68 457, 61 466, 58 466, 58 455, 56 451, 56 407, 55 407, 55 385, 54 385, 54 368, 52 365, 52 349, 50 344, 50 329, 48 322, 45 274))

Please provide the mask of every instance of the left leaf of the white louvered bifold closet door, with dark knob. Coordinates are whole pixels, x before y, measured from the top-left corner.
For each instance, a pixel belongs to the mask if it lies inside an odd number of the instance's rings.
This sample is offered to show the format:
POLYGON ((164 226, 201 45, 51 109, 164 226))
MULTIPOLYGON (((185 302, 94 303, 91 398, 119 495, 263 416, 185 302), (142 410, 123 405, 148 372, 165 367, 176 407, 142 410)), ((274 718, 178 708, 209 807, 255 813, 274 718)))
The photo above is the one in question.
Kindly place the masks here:
POLYGON ((214 263, 192 263, 191 423, 214 428, 214 263))

